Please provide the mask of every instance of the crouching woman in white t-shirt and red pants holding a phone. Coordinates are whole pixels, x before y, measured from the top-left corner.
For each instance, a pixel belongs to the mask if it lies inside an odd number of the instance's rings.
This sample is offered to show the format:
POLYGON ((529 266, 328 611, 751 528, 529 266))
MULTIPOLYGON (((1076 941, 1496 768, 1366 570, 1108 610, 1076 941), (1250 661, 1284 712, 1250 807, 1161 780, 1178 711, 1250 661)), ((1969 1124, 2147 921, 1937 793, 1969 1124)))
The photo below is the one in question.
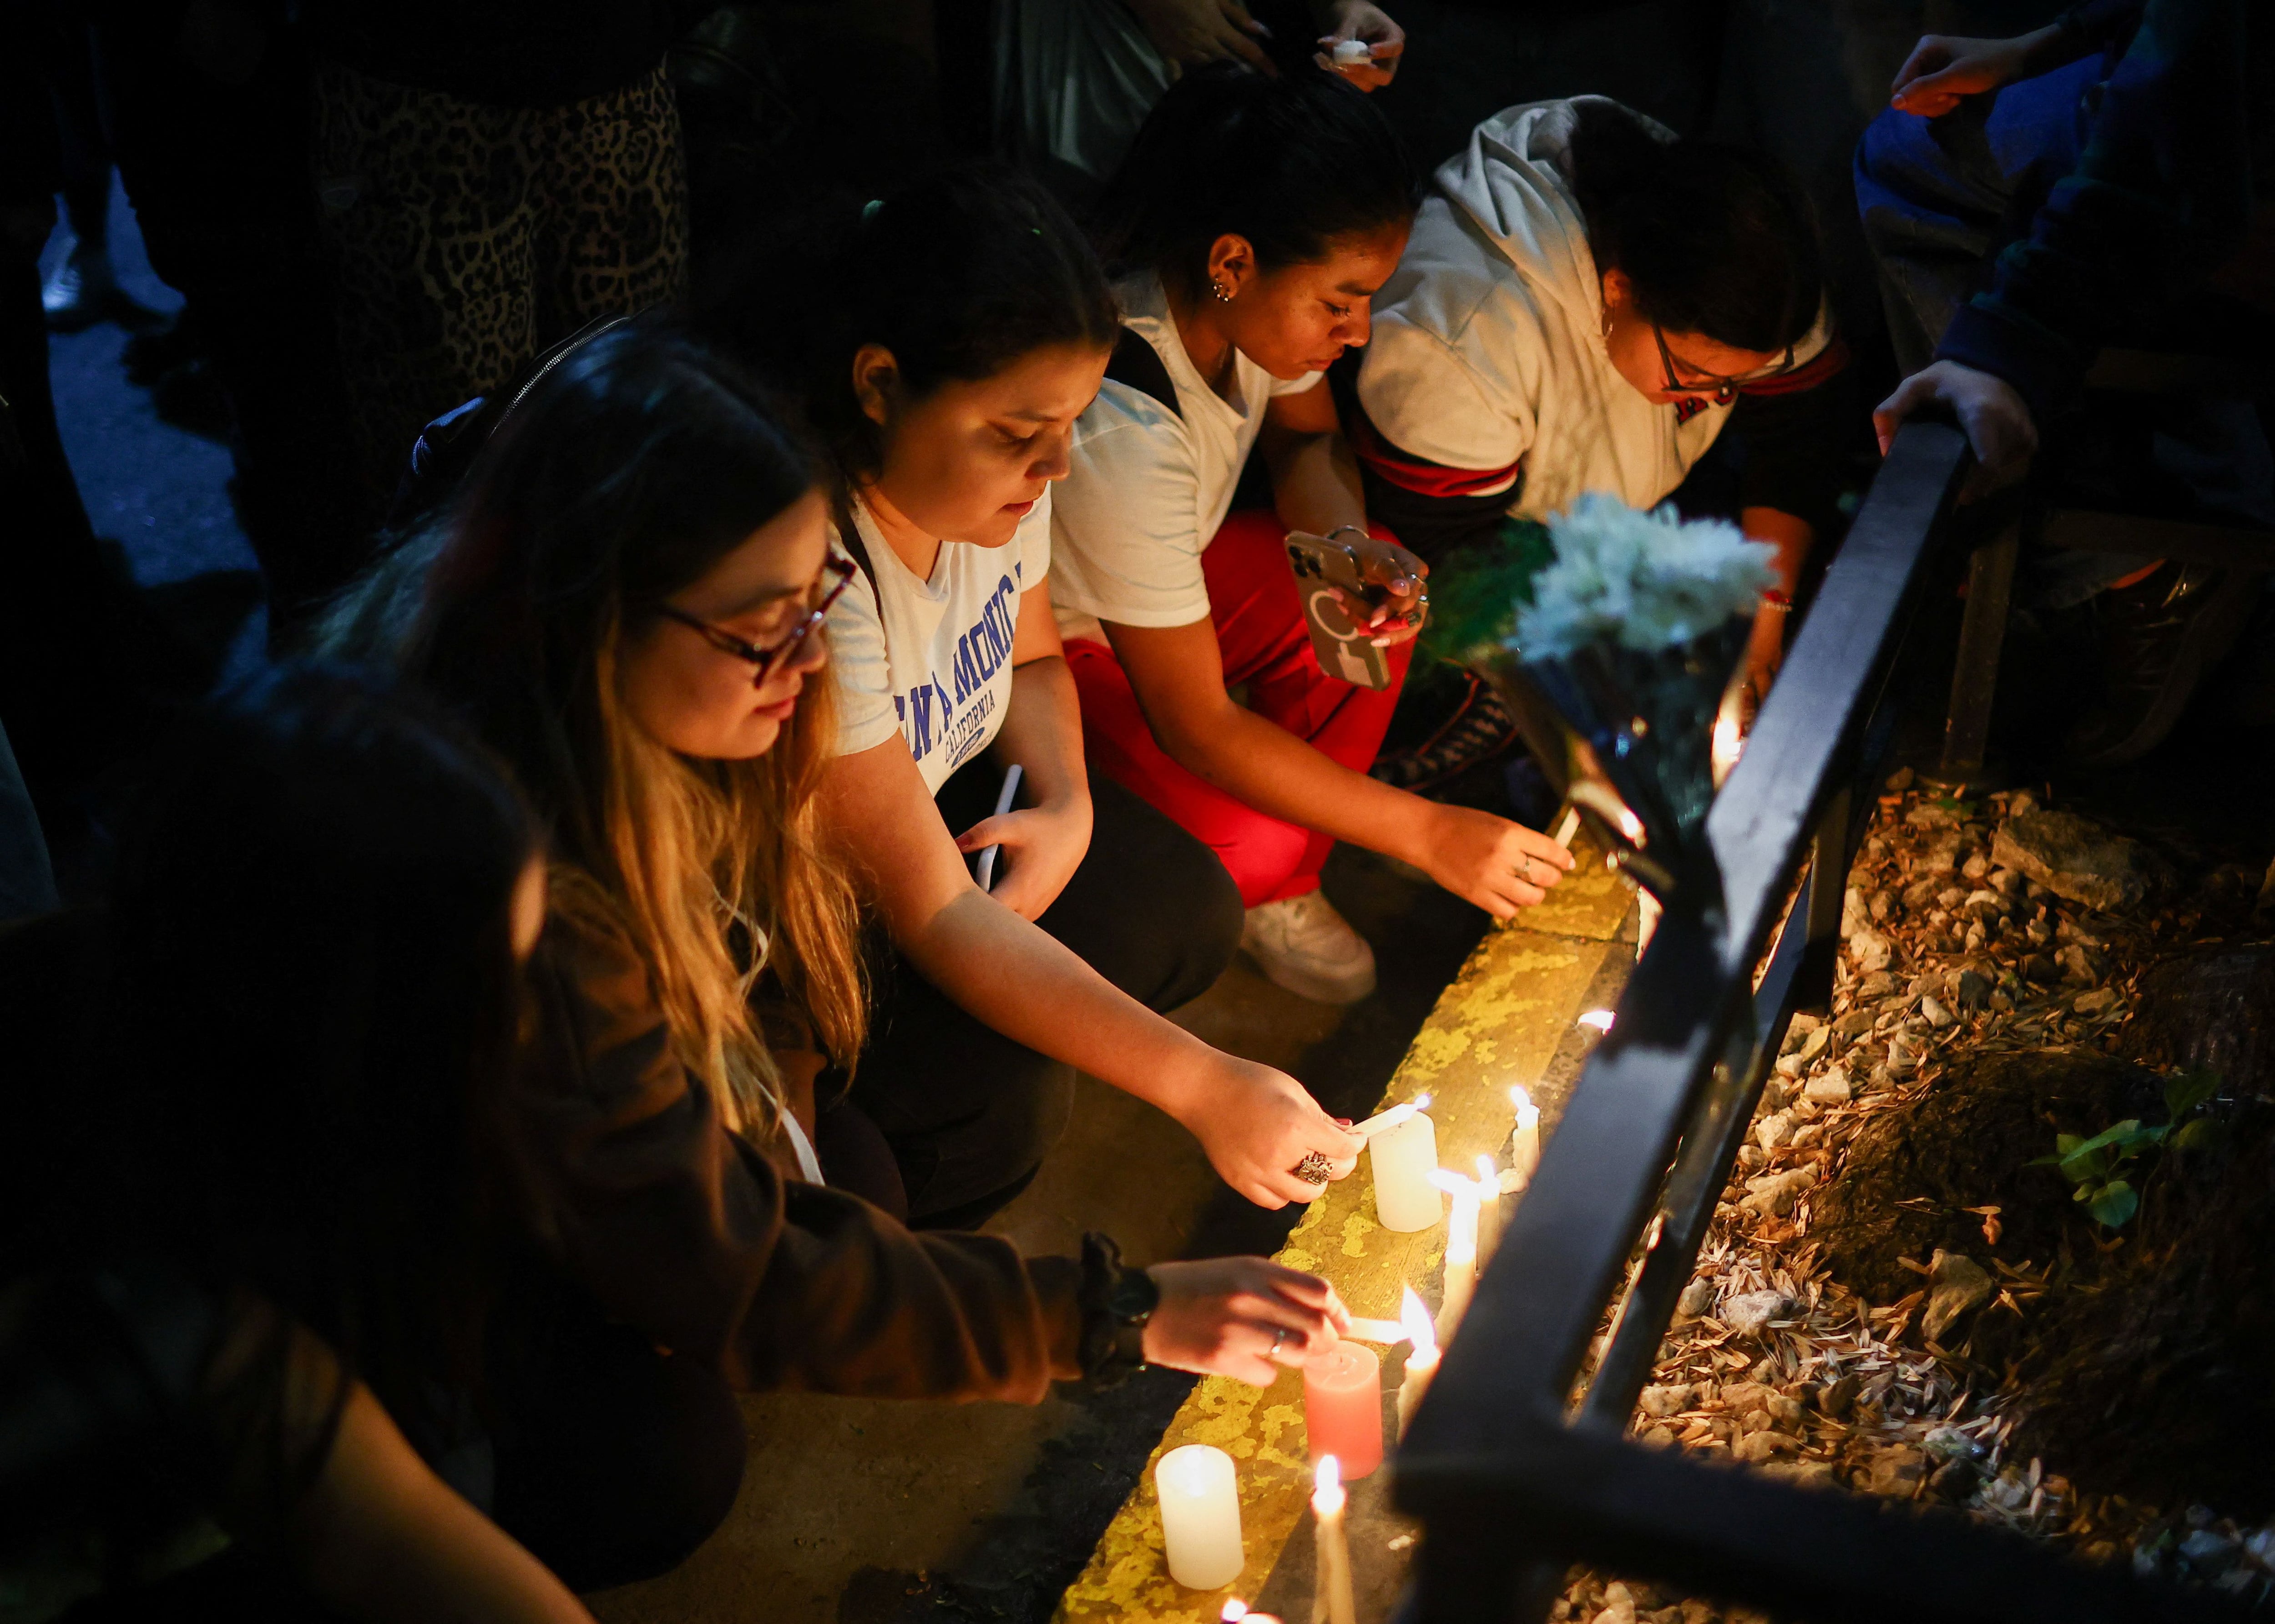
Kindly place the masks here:
POLYGON ((1490 812, 1367 778, 1422 623, 1424 564, 1367 528, 1320 387, 1367 341, 1417 175, 1383 116, 1326 73, 1208 68, 1147 118, 1108 191, 1124 337, 1051 516, 1053 598, 1092 760, 1217 851, 1272 980, 1349 1003, 1374 953, 1320 896, 1338 839, 1508 917, 1570 855, 1490 812), (1233 514, 1256 450, 1274 512, 1233 514), (1283 537, 1347 544, 1392 682, 1320 669, 1283 537), (1244 687, 1235 701, 1233 685, 1244 687))

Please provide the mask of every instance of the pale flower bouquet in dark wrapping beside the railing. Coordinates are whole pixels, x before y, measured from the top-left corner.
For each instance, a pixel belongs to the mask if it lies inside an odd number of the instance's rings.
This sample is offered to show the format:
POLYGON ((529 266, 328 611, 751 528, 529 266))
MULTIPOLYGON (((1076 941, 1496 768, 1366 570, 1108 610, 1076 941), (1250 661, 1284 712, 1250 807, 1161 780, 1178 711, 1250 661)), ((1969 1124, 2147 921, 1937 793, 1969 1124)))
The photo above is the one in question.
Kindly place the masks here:
POLYGON ((1549 539, 1556 557, 1517 605, 1506 655, 1561 723, 1574 805, 1611 826, 1665 901, 1713 805, 1713 726, 1777 582, 1774 550, 1718 519, 1608 496, 1549 519, 1549 539))

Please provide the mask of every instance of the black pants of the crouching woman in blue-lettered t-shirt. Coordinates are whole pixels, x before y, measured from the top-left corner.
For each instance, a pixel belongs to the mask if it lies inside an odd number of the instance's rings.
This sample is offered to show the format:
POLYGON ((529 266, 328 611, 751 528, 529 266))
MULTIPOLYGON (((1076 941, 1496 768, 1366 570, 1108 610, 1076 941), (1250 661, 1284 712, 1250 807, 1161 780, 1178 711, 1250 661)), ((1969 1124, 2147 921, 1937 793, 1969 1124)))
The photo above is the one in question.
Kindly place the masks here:
MULTIPOLYGON (((940 787, 962 832, 1001 773, 974 762, 940 787)), ((1240 948, 1240 889, 1215 853, 1122 785, 1090 773, 1090 851, 1037 921, 1149 1010, 1201 996, 1240 948)), ((917 1228, 976 1228, 1033 1183, 1067 1126, 1074 1067, 965 1014, 876 946, 876 1019, 853 1103, 885 1133, 917 1228)))

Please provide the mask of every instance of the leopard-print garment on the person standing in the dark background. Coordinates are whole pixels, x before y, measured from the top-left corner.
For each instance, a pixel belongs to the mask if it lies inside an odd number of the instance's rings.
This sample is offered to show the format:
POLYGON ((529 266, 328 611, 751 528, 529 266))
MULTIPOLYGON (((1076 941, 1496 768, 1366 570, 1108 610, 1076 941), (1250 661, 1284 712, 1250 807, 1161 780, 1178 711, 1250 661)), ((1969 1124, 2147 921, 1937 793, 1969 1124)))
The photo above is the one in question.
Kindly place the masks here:
POLYGON ((566 107, 487 107, 316 71, 316 191, 362 473, 596 316, 680 298, 687 173, 662 66, 566 107))

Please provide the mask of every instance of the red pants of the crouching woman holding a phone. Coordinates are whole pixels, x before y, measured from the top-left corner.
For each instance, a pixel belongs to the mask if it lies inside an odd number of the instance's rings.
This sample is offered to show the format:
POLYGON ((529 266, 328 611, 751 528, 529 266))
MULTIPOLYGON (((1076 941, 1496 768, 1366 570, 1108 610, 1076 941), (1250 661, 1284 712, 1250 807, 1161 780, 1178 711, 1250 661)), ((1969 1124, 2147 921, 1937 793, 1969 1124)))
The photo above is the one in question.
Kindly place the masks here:
MULTIPOLYGON (((1224 682, 1247 682, 1249 710, 1363 773, 1390 726, 1413 644, 1390 651, 1390 687, 1383 691, 1326 676, 1304 630, 1285 535, 1288 528, 1267 512, 1231 514, 1201 553, 1224 682)), ((1388 530, 1376 528, 1374 535, 1390 539, 1388 530)), ((1083 696, 1090 762, 1215 851, 1247 908, 1317 889, 1335 844, 1331 835, 1267 817, 1172 762, 1153 741, 1131 680, 1106 644, 1069 641, 1067 664, 1083 696)))

